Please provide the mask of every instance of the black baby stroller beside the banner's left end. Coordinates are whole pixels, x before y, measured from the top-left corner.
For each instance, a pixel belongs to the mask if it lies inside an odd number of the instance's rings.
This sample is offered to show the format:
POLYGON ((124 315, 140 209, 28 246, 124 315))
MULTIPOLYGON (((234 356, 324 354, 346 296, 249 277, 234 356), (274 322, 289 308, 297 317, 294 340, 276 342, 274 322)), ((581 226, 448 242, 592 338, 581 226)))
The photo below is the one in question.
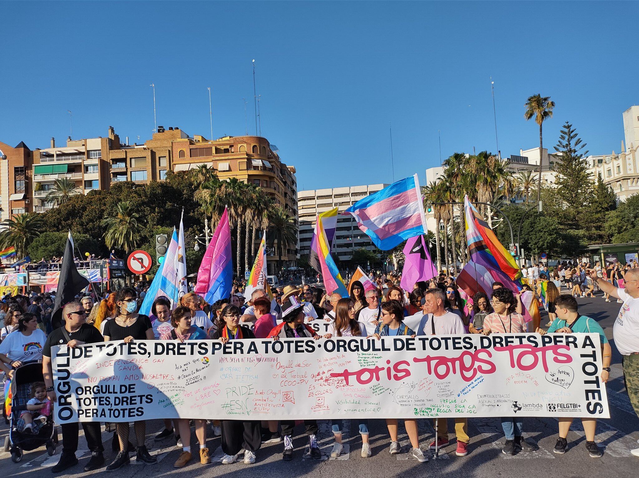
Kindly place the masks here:
POLYGON ((9 435, 4 438, 4 451, 11 452, 13 463, 22 460, 24 451, 35 450, 45 445, 49 456, 56 453, 58 445, 58 431, 54 426, 52 418, 49 418, 42 425, 37 433, 23 433, 18 431, 17 422, 20 413, 27 410, 27 401, 31 399, 31 384, 34 382, 44 382, 42 376, 42 364, 38 362, 28 362, 13 372, 11 382, 11 412, 5 418, 9 420, 9 435))

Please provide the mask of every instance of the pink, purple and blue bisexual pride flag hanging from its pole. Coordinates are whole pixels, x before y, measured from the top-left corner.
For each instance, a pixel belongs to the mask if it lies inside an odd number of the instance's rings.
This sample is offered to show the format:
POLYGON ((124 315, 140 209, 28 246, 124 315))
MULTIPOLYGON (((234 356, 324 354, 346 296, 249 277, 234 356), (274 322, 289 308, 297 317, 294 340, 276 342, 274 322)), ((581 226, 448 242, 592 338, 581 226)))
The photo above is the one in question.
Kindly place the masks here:
POLYGON ((204 302, 213 304, 222 298, 228 298, 233 288, 233 257, 231 251, 231 228, 229 227, 229 213, 224 213, 211 242, 206 247, 202 264, 197 271, 195 291, 204 302))

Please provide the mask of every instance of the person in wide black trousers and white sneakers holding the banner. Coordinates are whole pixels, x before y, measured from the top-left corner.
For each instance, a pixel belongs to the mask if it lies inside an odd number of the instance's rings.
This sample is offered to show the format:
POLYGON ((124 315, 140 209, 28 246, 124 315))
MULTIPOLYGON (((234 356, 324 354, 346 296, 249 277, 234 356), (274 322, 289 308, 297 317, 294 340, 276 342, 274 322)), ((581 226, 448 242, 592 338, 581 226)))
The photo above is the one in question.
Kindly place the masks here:
MULTIPOLYGON (((267 299, 268 300, 268 299, 267 299)), ((222 309, 213 340, 223 344, 233 340, 254 339, 255 335, 249 327, 240 325, 242 311, 235 305, 227 305, 222 309)), ((235 463, 244 449, 244 463, 255 463, 255 452, 262 443, 259 422, 256 420, 220 420, 222 426, 222 458, 223 465, 235 463)))

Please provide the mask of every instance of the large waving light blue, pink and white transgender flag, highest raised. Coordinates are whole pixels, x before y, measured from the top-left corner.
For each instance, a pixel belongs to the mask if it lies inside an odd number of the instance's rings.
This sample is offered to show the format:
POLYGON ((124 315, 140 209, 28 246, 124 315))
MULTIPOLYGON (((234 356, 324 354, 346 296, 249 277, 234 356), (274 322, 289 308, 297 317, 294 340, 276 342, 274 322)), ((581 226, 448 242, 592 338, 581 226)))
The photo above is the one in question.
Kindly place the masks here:
POLYGON ((427 231, 417 174, 360 199, 346 213, 353 215, 357 226, 382 251, 427 231))

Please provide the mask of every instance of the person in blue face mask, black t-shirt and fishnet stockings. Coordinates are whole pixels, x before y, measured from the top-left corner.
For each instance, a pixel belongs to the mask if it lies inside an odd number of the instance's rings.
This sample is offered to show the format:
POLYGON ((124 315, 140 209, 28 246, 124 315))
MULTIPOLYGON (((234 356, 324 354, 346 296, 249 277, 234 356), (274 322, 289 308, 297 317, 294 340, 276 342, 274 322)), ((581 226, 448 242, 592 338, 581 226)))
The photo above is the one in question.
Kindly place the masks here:
MULTIPOLYGON (((107 321, 104 326, 104 341, 123 340, 130 343, 134 340, 153 340, 153 326, 151 320, 146 315, 138 314, 137 297, 134 289, 124 288, 116 294, 116 318, 107 321)), ((107 472, 112 472, 128 465, 128 422, 117 424, 117 433, 120 451, 111 463, 107 466, 107 472)), ((139 420, 134 422, 135 440, 137 440, 137 456, 135 461, 142 461, 149 465, 157 463, 157 458, 149 454, 148 449, 144 446, 144 437, 146 436, 146 422, 139 420)))

